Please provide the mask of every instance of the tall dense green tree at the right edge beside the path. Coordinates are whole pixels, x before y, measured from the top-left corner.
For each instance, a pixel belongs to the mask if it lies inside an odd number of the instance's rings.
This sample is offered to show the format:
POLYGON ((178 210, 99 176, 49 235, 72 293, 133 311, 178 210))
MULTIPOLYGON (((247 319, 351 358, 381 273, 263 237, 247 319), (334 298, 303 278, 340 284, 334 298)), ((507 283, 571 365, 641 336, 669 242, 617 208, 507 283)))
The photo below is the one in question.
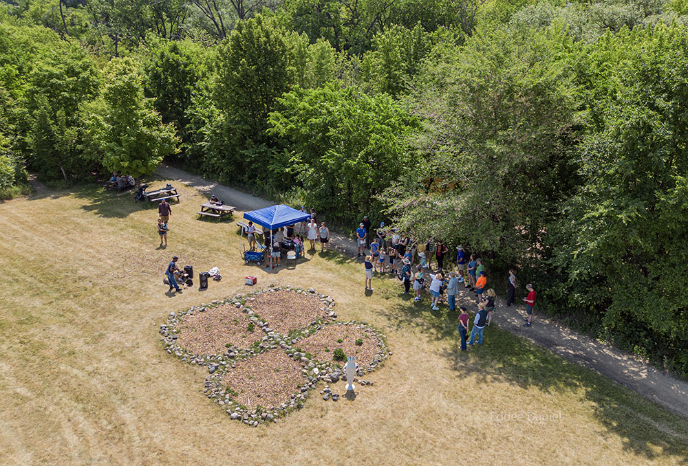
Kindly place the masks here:
POLYGON ((590 89, 585 183, 567 205, 555 258, 573 291, 561 293, 569 306, 592 307, 612 335, 660 349, 684 371, 687 51, 678 25, 608 34, 591 47, 581 65, 590 89))

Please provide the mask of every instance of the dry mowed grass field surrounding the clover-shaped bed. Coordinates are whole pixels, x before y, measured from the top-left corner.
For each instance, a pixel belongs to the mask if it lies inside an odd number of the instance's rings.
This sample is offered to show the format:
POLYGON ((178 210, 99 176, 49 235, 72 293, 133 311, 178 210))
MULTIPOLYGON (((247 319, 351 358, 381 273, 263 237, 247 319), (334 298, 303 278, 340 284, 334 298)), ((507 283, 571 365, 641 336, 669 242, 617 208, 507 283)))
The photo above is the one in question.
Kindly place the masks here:
POLYGON ((404 298, 396 278, 376 276, 365 296, 351 258, 246 266, 236 220, 200 221, 205 198, 180 194, 167 249, 157 210, 131 192, 0 204, 1 465, 688 462, 685 419, 506 331, 488 328, 482 347, 462 353, 456 313, 404 298), (224 278, 169 296, 173 254, 224 278), (335 298, 340 320, 385 331, 394 355, 366 377, 374 386, 336 403, 312 392, 273 425, 231 421, 202 393, 207 369, 167 355, 158 329, 171 311, 250 291, 248 274, 259 288, 314 287, 335 298))

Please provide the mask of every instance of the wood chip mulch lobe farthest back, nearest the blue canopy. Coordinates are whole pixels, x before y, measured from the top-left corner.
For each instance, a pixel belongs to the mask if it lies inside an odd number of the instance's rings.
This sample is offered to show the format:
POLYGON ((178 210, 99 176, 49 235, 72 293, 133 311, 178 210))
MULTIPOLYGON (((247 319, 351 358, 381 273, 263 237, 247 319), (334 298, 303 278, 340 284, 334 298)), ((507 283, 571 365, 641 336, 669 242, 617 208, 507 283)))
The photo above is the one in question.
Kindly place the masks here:
POLYGON ((325 306, 317 296, 290 290, 259 293, 254 300, 246 301, 246 306, 282 335, 301 329, 327 315, 327 308, 323 310, 325 306))

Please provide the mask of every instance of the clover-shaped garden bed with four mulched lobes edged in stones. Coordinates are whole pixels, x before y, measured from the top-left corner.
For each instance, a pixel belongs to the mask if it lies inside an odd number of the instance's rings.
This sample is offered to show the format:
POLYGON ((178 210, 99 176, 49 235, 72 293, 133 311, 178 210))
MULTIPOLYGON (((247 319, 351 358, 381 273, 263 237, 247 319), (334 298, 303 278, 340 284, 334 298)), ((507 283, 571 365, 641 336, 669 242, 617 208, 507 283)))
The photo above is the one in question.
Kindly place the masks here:
POLYGON ((347 356, 362 377, 391 355, 372 326, 334 321, 334 305, 314 289, 270 288, 170 313, 160 334, 167 353, 208 367, 209 399, 257 426, 301 408, 319 381, 345 380, 347 356))

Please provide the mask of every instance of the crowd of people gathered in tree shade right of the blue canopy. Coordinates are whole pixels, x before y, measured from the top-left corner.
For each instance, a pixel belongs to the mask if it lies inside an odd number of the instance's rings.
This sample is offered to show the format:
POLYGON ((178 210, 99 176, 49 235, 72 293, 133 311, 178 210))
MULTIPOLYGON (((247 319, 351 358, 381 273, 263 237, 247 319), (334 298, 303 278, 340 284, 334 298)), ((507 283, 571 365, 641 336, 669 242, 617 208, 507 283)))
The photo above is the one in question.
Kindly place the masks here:
MULTIPOLYGON (((461 348, 482 344, 483 331, 490 326, 495 311, 495 290, 488 287, 488 276, 484 260, 475 257, 474 254, 466 254, 462 245, 456 247, 454 260, 448 258, 449 247, 442 241, 418 241, 413 236, 400 232, 397 228, 389 228, 385 222, 380 222, 376 230, 372 230, 372 223, 367 217, 356 229, 356 246, 358 257, 365 256, 363 267, 365 270, 365 291, 373 291, 372 280, 374 273, 396 274, 402 281, 403 293, 408 294, 411 289, 416 296, 414 301, 422 300, 422 290, 427 287, 430 293, 430 305, 433 311, 438 311, 442 296, 447 293, 447 305, 449 311, 456 310, 456 297, 459 295, 459 285, 473 292, 477 304, 477 312, 473 319, 473 327, 469 332, 469 311, 460 306, 459 333, 461 335, 461 348), (433 260, 436 267, 433 267, 433 260), (451 266, 447 267, 445 261, 451 260, 451 266), (445 275, 445 269, 451 268, 445 275)), ((507 284, 506 307, 514 304, 516 289, 516 274, 509 270, 507 284)), ((526 285, 528 296, 524 298, 526 303, 526 322, 529 327, 533 323, 533 308, 535 307, 535 289, 533 285, 526 285)))

